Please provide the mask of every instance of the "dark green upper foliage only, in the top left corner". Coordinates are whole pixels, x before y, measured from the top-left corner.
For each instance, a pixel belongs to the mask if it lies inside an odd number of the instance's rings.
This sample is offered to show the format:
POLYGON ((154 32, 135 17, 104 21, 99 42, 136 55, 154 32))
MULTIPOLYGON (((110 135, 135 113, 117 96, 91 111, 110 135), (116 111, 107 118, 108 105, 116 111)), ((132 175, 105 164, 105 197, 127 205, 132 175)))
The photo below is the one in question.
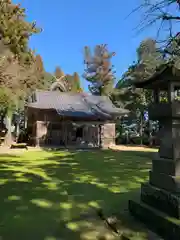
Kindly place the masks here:
POLYGON ((39 32, 35 22, 27 22, 25 9, 10 0, 0 2, 0 35, 3 43, 22 61, 29 62, 32 51, 28 47, 29 37, 39 32))

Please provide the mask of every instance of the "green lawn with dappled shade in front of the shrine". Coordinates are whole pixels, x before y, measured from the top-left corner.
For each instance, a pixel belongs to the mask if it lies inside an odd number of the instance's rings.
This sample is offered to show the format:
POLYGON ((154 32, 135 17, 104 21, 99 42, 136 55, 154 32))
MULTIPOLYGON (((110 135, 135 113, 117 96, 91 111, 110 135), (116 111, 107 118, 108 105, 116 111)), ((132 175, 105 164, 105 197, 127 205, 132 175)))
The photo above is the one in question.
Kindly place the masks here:
POLYGON ((148 179, 150 153, 27 151, 0 154, 0 163, 0 239, 115 239, 91 216, 96 207, 137 232, 124 216, 148 179), (103 231, 106 238, 98 238, 103 231))

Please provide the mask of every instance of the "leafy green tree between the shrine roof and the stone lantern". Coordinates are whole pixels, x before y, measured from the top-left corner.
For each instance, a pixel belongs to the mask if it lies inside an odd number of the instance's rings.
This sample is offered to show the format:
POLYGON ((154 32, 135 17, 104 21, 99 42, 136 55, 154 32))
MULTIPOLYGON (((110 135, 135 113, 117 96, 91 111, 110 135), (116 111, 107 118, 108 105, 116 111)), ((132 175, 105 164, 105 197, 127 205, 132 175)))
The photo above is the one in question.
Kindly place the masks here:
POLYGON ((132 111, 146 107, 151 101, 151 91, 133 88, 133 81, 142 81, 150 77, 164 62, 163 54, 153 39, 142 41, 137 48, 137 60, 129 66, 116 85, 113 100, 123 103, 132 111))

